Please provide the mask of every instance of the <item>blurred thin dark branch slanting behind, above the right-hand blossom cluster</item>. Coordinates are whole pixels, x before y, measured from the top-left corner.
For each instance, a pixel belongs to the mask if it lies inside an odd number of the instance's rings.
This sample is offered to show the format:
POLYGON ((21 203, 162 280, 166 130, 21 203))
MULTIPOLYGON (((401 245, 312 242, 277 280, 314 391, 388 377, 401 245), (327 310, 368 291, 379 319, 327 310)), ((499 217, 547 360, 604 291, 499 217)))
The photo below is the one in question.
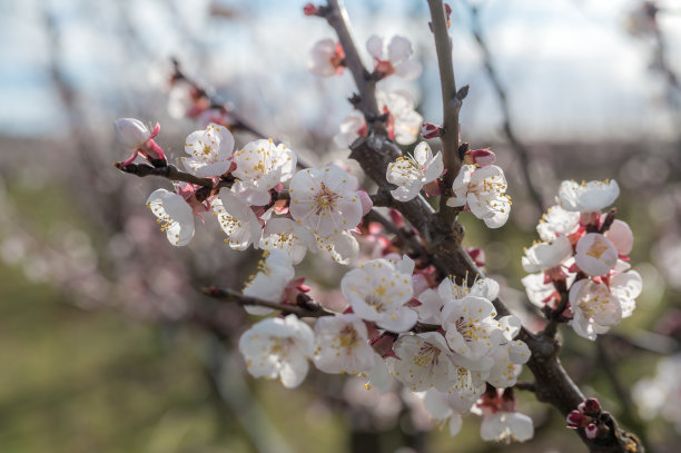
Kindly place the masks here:
POLYGON ((487 43, 485 42, 482 35, 482 28, 480 24, 480 10, 474 6, 468 7, 471 10, 471 29, 473 32, 473 37, 475 38, 480 50, 483 52, 483 61, 485 65, 485 70, 487 71, 487 77, 490 77, 490 80, 492 81, 492 87, 494 87, 494 91, 496 91, 496 96, 499 97, 502 117, 504 118, 504 134, 506 135, 506 138, 511 142, 511 147, 517 156, 519 165, 521 167, 521 170, 523 171, 523 179, 525 180, 525 186, 527 187, 530 198, 532 199, 532 203, 534 203, 534 206, 537 208, 541 215, 541 213, 544 211, 544 201, 542 200, 540 190, 536 188, 535 184, 532 181, 532 177, 530 176, 530 152, 525 145, 523 145, 523 142, 520 141, 517 139, 517 136, 515 135, 515 128, 513 127, 511 110, 509 108, 509 98, 499 78, 496 69, 492 63, 492 55, 490 53, 487 43))

